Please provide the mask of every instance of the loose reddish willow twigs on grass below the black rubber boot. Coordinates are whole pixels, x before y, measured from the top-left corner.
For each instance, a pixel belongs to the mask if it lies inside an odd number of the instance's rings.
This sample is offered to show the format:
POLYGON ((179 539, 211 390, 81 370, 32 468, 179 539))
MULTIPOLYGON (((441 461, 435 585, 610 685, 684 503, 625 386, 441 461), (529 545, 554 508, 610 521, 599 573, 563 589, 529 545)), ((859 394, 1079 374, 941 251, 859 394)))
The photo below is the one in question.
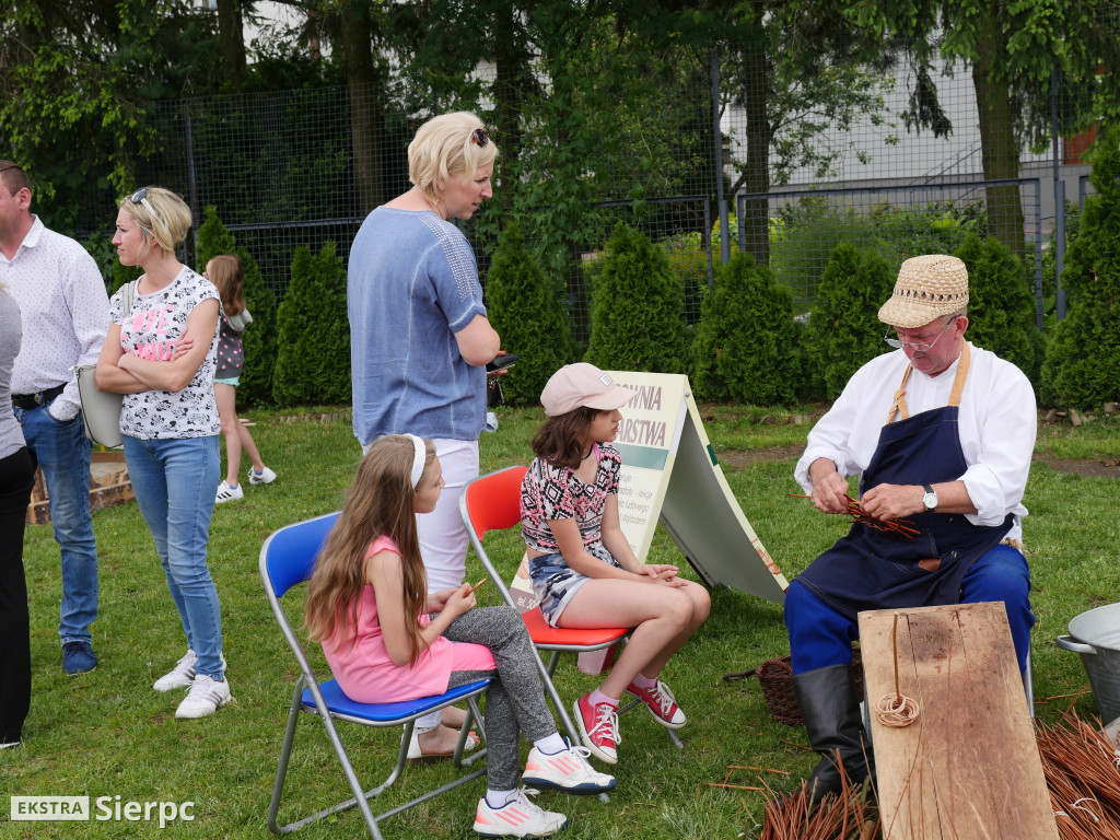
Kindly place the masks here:
MULTIPOLYGON (((840 769, 843 790, 829 794, 810 811, 804 785, 783 797, 767 799, 758 840, 871 840, 879 823, 870 802, 870 784, 856 785, 840 769)), ((746 833, 749 837, 749 831, 746 833)))

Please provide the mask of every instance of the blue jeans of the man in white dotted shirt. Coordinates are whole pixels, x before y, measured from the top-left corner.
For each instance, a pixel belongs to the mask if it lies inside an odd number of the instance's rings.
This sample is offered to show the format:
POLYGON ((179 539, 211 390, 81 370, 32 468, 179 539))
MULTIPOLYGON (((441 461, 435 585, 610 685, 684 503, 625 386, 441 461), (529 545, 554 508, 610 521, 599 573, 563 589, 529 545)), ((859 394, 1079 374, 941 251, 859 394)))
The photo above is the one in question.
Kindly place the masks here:
POLYGON ((63 600, 58 638, 90 642, 97 617, 97 544, 90 516, 90 441, 82 413, 60 423, 47 408, 15 409, 31 457, 43 468, 50 497, 50 522, 62 550, 63 600))

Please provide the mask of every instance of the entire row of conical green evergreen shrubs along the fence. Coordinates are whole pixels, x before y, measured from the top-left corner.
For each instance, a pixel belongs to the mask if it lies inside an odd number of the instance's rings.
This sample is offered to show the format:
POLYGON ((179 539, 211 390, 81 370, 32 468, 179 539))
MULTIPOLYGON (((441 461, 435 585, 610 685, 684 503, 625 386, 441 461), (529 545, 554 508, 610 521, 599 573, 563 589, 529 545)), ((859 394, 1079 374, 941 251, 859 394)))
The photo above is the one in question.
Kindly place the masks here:
MULTIPOLYGON (((1018 259, 971 232, 956 249, 969 269, 969 339, 1017 364, 1043 404, 1091 409, 1120 401, 1120 129, 1105 129, 1096 150, 1096 195, 1086 199, 1062 276, 1068 315, 1048 345, 1018 259)), ((255 261, 208 207, 199 262, 218 253, 241 255, 255 319, 245 336, 239 400, 348 402, 346 274, 334 244, 318 255, 307 248, 296 252, 279 311, 255 261)), ((563 282, 541 269, 516 223, 504 232, 486 293, 503 347, 520 357, 503 379, 508 402, 535 403, 552 372, 580 357, 607 370, 687 373, 704 400, 833 400, 860 365, 888 349, 877 312, 894 277, 876 249, 833 249, 808 318, 795 315, 790 290, 769 269, 736 253, 719 265, 712 288, 701 289, 694 326, 685 324, 685 290, 666 250, 640 231, 619 223, 585 269, 592 305, 581 354, 563 282)), ((124 277, 115 272, 115 284, 124 277)))

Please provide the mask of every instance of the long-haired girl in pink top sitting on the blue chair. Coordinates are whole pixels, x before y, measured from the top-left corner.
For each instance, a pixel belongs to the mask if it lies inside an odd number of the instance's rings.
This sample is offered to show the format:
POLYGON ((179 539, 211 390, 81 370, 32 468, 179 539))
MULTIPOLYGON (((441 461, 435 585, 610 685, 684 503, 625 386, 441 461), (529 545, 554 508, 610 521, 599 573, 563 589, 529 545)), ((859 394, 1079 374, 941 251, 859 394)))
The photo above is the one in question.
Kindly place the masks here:
POLYGON ((484 678, 487 791, 475 831, 483 837, 548 837, 563 814, 544 811, 524 785, 601 793, 613 776, 597 773, 585 747, 570 746, 544 703, 532 642, 512 607, 474 609, 469 584, 428 594, 417 513, 436 507, 444 486, 435 446, 414 435, 377 440, 358 467, 338 522, 315 564, 305 608, 338 685, 358 702, 440 694, 484 678), (451 642, 486 627, 489 646, 451 642), (521 735, 533 743, 522 775, 521 735))

